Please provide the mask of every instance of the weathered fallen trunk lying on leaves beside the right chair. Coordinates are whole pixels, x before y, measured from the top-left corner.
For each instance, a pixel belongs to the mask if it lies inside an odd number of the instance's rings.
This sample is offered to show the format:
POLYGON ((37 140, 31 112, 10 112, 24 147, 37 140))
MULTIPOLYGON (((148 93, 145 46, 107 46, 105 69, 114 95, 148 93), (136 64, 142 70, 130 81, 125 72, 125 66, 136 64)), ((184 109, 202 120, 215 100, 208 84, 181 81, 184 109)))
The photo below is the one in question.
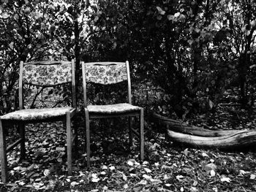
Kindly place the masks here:
POLYGON ((154 113, 152 120, 163 128, 167 139, 192 147, 235 149, 256 144, 256 131, 251 130, 208 130, 189 126, 179 120, 165 118, 154 113))

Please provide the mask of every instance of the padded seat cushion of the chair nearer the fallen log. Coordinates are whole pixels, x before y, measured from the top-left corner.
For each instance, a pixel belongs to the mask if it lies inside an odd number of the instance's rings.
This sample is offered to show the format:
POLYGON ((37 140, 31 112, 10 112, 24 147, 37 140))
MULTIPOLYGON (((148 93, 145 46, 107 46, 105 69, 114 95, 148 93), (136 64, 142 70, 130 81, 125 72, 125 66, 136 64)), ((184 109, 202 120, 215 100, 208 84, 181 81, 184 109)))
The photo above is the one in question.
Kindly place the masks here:
POLYGON ((138 112, 141 108, 132 104, 106 104, 106 105, 88 105, 87 109, 91 113, 118 114, 126 112, 138 112))

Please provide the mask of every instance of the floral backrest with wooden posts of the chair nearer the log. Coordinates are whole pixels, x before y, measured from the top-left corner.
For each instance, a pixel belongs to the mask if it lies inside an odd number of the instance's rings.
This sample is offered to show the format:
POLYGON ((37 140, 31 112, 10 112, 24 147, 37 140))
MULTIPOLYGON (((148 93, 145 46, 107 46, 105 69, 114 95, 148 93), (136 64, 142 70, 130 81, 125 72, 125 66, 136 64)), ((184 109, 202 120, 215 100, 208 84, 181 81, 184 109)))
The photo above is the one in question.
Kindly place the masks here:
POLYGON ((87 106, 86 84, 93 82, 101 85, 112 85, 127 81, 128 102, 132 104, 129 62, 82 62, 83 73, 83 104, 87 106))

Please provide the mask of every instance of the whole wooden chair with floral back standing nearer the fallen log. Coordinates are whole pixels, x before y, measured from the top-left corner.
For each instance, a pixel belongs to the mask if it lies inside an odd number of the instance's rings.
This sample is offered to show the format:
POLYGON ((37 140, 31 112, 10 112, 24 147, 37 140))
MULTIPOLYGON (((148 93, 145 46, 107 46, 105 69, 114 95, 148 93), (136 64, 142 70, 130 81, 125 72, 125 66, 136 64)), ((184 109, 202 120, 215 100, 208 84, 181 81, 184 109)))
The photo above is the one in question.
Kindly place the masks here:
POLYGON ((140 159, 144 158, 144 134, 143 134, 143 108, 132 105, 131 82, 129 75, 129 62, 82 62, 83 72, 83 101, 86 116, 86 152, 87 166, 90 167, 90 127, 89 120, 97 118, 129 117, 129 144, 132 145, 132 134, 140 138, 140 159), (128 103, 92 105, 88 104, 86 85, 91 84, 111 85, 118 82, 128 83, 128 103), (132 117, 140 118, 140 132, 132 128, 132 117))

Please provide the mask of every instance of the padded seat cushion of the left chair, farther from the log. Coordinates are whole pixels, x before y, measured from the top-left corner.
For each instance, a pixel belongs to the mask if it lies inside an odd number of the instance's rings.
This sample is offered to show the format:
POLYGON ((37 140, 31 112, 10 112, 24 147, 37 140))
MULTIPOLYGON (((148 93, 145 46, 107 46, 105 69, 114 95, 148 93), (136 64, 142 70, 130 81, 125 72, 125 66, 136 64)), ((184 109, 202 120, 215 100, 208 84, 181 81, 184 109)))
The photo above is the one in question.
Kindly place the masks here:
POLYGON ((29 109, 10 112, 0 116, 1 120, 44 120, 48 118, 56 118, 65 115, 66 112, 72 110, 72 107, 56 107, 46 109, 29 109))

